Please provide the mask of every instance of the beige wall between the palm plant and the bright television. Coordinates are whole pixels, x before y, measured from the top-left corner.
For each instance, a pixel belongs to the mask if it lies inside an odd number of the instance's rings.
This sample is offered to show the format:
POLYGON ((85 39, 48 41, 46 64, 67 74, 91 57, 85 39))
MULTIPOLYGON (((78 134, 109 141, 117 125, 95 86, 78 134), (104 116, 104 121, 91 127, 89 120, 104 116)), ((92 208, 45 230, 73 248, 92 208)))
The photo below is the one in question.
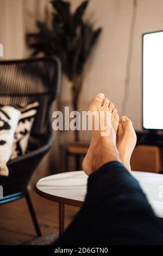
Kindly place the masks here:
MULTIPOLYGON (((80 3, 79 0, 71 2, 73 7, 80 3)), ((121 112, 132 8, 132 0, 90 1, 86 16, 88 18, 93 16, 92 20, 96 25, 103 27, 103 33, 91 58, 91 65, 86 70, 86 80, 80 100, 81 109, 85 108, 84 103, 88 104, 93 95, 104 92, 121 112)), ((129 99, 127 111, 122 113, 133 120, 136 130, 141 129, 141 35, 163 29, 162 11, 162 0, 137 0, 129 99)), ((66 100, 65 97, 64 99, 66 100)))

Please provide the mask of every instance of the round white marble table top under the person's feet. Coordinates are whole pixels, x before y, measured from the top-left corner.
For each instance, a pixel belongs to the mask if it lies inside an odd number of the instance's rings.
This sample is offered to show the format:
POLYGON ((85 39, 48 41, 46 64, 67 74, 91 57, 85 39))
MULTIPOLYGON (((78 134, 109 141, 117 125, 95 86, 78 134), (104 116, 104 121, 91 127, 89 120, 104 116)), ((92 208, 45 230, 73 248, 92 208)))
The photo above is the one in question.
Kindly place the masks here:
MULTIPOLYGON (((163 175, 132 172, 151 203, 156 215, 163 218, 163 175)), ((58 203, 82 206, 86 194, 87 176, 83 171, 47 176, 36 184, 40 196, 58 203)))

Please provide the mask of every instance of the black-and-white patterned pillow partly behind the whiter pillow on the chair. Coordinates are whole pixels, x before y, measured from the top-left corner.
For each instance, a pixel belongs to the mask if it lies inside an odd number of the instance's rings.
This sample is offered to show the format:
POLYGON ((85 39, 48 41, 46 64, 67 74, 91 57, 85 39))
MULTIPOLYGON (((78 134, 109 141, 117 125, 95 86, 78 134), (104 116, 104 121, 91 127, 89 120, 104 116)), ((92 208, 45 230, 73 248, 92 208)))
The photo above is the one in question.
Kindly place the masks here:
POLYGON ((14 135, 11 159, 15 159, 16 157, 22 156, 26 153, 30 130, 32 129, 38 106, 39 102, 37 101, 26 106, 16 106, 22 114, 20 120, 18 121, 17 129, 14 135))

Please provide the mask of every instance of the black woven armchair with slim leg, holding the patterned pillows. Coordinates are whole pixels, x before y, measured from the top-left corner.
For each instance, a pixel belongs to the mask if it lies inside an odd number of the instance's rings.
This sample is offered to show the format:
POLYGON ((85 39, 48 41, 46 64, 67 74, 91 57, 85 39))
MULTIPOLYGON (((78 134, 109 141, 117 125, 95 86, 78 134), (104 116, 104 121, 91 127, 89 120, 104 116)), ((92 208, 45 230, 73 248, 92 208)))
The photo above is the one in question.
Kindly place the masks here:
POLYGON ((41 231, 27 185, 53 142, 51 107, 60 90, 61 64, 57 58, 0 62, 0 105, 39 102, 27 154, 8 162, 9 176, 0 176, 0 204, 26 197, 37 236, 41 231))

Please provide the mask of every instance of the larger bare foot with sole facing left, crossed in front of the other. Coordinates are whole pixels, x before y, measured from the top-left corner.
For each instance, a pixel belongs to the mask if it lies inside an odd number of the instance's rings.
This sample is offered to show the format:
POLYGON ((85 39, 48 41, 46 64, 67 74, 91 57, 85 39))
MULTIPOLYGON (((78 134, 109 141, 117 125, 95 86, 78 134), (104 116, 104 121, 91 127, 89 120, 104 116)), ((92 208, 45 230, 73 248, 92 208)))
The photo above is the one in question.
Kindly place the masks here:
MULTIPOLYGON (((116 148, 116 131, 118 128, 119 118, 114 104, 108 99, 104 99, 104 94, 98 94, 91 103, 89 111, 110 112, 110 120, 107 123, 106 117, 100 119, 100 122, 106 125, 106 130, 110 131, 108 136, 101 136, 102 130, 95 130, 93 122, 92 138, 89 150, 83 160, 83 170, 87 175, 95 172, 103 164, 110 161, 119 161, 120 155, 116 148)), ((96 121, 96 120, 95 120, 96 121)))

